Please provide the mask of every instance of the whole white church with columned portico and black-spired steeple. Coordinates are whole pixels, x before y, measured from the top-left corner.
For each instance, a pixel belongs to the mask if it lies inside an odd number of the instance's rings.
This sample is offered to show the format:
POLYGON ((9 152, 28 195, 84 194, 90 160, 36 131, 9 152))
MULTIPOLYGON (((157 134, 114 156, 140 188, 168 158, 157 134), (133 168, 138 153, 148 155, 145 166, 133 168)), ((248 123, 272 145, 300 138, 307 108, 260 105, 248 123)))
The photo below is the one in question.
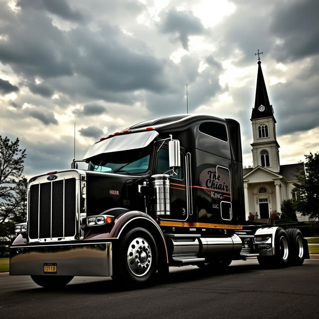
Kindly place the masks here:
MULTIPOLYGON (((305 166, 304 163, 280 165, 276 120, 259 58, 255 106, 250 120, 253 167, 243 168, 246 219, 249 213, 257 219, 266 219, 273 211, 281 212, 283 200, 296 198, 294 183, 299 172, 305 171, 305 166)), ((297 217, 299 221, 308 220, 299 213, 297 217)))

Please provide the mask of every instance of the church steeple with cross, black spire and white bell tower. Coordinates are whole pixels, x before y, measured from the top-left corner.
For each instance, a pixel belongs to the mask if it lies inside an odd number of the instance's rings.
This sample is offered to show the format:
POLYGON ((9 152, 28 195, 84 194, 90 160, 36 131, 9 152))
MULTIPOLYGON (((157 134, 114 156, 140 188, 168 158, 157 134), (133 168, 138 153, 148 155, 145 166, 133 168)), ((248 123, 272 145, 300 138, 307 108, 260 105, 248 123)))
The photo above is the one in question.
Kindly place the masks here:
POLYGON ((276 120, 274 110, 270 105, 266 84, 261 69, 260 54, 258 55, 258 73, 256 85, 255 106, 251 114, 253 129, 253 164, 254 167, 262 166, 272 171, 280 171, 279 144, 276 138, 276 120))

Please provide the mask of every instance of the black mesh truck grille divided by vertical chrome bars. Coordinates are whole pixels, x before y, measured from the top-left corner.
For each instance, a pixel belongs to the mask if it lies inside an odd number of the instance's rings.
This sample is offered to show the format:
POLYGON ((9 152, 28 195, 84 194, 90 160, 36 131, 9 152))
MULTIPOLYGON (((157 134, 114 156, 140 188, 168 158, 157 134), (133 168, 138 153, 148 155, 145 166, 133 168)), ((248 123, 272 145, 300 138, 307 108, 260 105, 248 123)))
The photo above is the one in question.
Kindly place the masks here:
POLYGON ((29 238, 51 239, 76 235, 76 179, 30 186, 29 238))

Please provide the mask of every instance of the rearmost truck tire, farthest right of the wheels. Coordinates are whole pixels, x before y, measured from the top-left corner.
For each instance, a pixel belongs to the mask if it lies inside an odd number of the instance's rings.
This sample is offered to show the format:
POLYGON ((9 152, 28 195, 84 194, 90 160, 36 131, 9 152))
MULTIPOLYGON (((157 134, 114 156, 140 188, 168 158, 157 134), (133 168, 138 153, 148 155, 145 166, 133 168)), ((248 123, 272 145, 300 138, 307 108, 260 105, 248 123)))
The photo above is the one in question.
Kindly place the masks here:
POLYGON ((289 238, 289 262, 292 266, 301 266, 305 260, 303 234, 298 228, 286 229, 289 238))

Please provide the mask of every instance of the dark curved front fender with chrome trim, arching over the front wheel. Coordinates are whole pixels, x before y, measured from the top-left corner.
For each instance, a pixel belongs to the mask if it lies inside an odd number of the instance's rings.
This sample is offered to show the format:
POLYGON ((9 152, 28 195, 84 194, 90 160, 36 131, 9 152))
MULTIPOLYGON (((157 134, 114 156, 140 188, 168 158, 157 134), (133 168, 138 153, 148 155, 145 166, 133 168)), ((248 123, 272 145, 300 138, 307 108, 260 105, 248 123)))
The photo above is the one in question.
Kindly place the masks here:
POLYGON ((92 228, 92 231, 84 238, 84 240, 103 240, 103 239, 120 239, 121 235, 125 230, 133 228, 135 226, 144 226, 148 230, 151 230, 153 235, 156 237, 158 244, 161 244, 165 250, 165 259, 168 263, 168 250, 165 242, 164 235, 160 229, 158 223, 148 214, 138 211, 129 210, 126 208, 111 208, 103 212, 102 214, 112 215, 115 217, 113 225, 110 225, 105 231, 92 228))

